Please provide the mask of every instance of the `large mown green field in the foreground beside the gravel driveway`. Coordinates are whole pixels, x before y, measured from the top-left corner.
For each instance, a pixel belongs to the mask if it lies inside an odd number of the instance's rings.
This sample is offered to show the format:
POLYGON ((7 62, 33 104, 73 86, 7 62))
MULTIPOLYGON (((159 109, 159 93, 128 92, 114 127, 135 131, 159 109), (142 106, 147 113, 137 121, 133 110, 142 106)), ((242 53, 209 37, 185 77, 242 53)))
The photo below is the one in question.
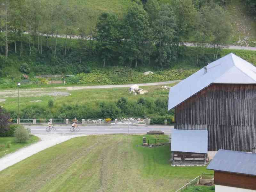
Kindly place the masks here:
POLYGON ((172 167, 169 145, 142 147, 142 138, 119 134, 68 140, 0 172, 0 191, 175 191, 211 172, 205 166, 172 167))

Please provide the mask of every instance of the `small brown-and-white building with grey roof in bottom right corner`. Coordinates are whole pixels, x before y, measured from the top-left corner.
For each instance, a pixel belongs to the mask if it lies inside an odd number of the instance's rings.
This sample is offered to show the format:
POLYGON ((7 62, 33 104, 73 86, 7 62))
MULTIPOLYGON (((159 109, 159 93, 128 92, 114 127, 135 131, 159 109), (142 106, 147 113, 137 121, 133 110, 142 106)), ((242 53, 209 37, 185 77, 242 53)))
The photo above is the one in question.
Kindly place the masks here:
POLYGON ((216 192, 256 191, 256 154, 220 149, 207 169, 214 170, 216 192))

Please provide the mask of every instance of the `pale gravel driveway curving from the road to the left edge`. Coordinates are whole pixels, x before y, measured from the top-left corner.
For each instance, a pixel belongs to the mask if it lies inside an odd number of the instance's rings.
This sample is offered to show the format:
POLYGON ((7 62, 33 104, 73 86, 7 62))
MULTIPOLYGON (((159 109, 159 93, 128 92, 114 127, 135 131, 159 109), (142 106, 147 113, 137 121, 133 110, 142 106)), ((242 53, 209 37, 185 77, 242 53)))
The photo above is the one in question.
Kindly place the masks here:
POLYGON ((29 156, 32 156, 46 148, 52 147, 74 137, 85 136, 85 134, 34 134, 41 140, 20 150, 0 158, 0 171, 16 164, 29 156))

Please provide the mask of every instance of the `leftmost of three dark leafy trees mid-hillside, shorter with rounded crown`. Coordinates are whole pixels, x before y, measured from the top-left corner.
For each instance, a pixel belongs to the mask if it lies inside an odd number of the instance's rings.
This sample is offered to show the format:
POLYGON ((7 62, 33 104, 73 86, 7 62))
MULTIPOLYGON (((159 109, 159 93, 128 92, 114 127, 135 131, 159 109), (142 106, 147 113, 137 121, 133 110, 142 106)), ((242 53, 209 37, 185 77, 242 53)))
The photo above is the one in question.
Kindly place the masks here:
POLYGON ((118 49, 118 44, 121 43, 120 21, 114 13, 102 13, 99 22, 96 26, 97 40, 100 42, 98 50, 103 60, 103 68, 106 60, 113 58, 118 49))

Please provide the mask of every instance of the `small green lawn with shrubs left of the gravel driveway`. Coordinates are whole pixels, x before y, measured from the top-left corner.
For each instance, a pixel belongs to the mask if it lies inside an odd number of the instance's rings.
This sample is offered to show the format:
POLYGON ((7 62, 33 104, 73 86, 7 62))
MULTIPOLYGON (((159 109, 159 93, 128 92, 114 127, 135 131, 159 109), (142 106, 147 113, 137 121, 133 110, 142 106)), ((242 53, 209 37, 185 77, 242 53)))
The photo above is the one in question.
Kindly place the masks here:
POLYGON ((0 137, 0 158, 39 141, 35 135, 32 135, 26 143, 16 143, 14 139, 14 137, 0 137), (7 142, 11 142, 10 148, 7 147, 7 142))

